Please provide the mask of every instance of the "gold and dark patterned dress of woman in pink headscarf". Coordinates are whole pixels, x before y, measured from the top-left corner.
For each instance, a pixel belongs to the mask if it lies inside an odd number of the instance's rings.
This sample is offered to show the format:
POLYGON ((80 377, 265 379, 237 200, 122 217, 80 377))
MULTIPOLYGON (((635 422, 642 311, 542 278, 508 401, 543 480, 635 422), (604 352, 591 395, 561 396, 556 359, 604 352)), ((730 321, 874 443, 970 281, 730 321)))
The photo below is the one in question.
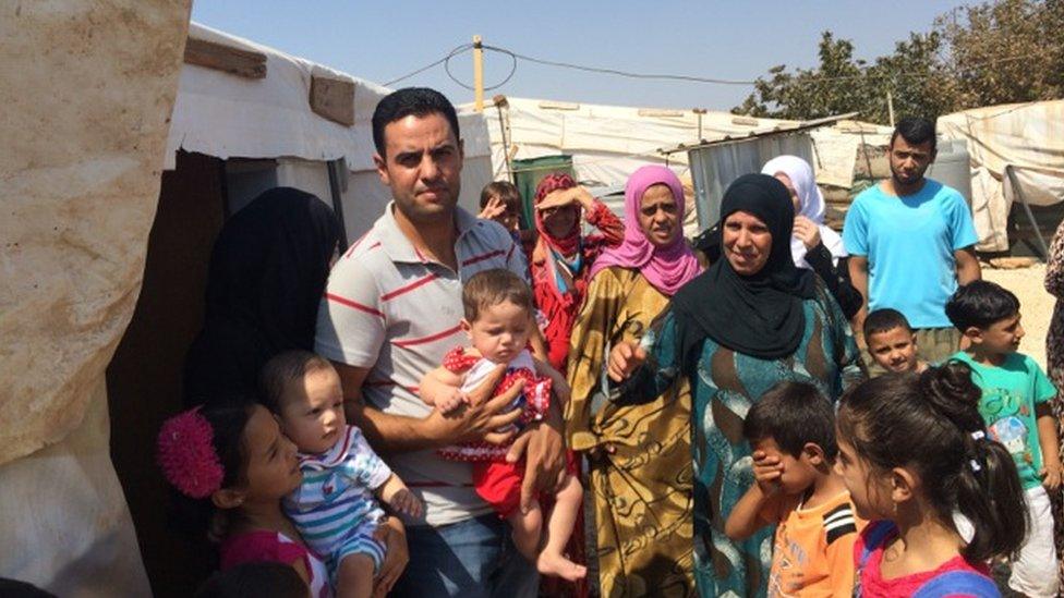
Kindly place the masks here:
POLYGON ((591 280, 572 328, 566 406, 569 446, 591 462, 602 595, 691 596, 693 475, 687 383, 638 405, 602 392, 606 351, 639 342, 668 305, 638 270, 591 280))

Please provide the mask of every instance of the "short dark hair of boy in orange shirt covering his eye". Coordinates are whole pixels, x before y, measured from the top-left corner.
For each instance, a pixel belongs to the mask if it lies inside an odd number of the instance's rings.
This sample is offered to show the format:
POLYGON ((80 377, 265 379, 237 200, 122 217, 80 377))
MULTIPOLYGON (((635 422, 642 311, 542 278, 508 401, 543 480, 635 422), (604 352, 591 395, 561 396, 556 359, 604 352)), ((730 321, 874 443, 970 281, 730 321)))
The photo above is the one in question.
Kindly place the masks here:
POLYGON ((809 382, 785 380, 765 391, 747 412, 742 436, 750 442, 771 438, 794 457, 809 442, 820 447, 829 462, 838 454, 835 408, 809 382))

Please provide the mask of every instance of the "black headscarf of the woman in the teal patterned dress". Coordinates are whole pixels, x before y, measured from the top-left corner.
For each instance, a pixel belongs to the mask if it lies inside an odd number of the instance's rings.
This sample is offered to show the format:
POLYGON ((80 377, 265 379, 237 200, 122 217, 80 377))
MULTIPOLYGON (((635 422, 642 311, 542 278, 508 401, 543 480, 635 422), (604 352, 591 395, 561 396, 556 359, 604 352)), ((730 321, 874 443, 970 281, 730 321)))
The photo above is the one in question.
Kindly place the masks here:
MULTIPOLYGON (((736 211, 755 216, 772 234, 772 249, 761 271, 741 276, 727 256, 673 297, 681 351, 706 337, 743 355, 775 359, 795 352, 806 326, 801 302, 815 293, 813 273, 795 266, 790 234, 795 207, 787 187, 766 174, 745 174, 724 193, 721 228, 736 211)), ((725 249, 726 252, 726 249, 725 249)))

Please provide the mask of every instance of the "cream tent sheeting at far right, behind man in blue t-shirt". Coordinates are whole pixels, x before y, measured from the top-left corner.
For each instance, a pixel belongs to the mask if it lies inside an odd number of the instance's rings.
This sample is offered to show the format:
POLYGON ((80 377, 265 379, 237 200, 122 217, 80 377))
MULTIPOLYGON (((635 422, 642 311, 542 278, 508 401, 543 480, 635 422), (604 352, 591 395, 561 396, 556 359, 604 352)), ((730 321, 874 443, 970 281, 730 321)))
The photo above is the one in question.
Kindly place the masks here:
POLYGON ((1016 192, 1033 206, 1064 199, 1064 100, 991 106, 939 118, 939 136, 963 139, 971 156, 971 211, 977 249, 1008 249, 1016 192), (1006 167, 1015 172, 1012 188, 1006 167))

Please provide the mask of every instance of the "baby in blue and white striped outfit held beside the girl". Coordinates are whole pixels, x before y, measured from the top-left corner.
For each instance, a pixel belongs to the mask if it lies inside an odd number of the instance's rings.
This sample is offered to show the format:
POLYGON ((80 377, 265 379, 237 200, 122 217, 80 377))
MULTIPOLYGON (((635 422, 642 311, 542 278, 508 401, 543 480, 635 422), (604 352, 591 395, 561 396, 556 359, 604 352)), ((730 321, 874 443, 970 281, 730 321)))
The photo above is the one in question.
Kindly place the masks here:
POLYGON ((285 512, 303 541, 322 556, 337 596, 368 598, 384 562, 376 537, 385 516, 377 500, 411 517, 421 501, 347 425, 340 377, 306 351, 277 355, 263 368, 263 401, 300 451, 303 481, 285 497, 285 512))

